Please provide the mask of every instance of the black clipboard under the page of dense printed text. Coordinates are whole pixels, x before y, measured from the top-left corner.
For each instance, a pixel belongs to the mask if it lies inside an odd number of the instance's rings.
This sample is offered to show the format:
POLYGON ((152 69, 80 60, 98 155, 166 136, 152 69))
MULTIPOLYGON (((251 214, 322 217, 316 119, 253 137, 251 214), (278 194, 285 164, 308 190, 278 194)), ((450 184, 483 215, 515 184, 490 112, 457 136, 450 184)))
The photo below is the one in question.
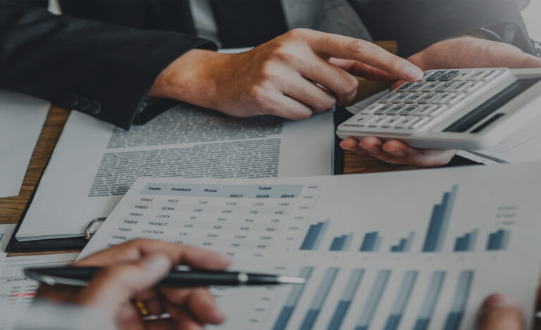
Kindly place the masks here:
MULTIPOLYGON (((335 129, 337 125, 340 125, 344 120, 347 120, 349 117, 351 117, 352 114, 349 113, 345 108, 343 107, 336 107, 335 112, 333 114, 334 117, 334 125, 335 129)), ((335 148, 334 148, 334 163, 333 163, 333 174, 343 174, 344 173, 344 151, 342 148, 340 148, 340 141, 341 139, 335 135, 335 148)), ((49 162, 45 167, 49 165, 49 162)), ((45 171, 44 171, 45 172, 45 171)), ((43 173, 42 173, 43 176, 43 173)), ((28 199, 28 202, 25 205, 25 210, 23 211, 23 214, 20 216, 20 219, 17 223, 17 226, 15 227, 15 230, 13 230, 13 234, 11 236, 11 239, 8 243, 8 246, 6 248, 7 253, 37 253, 37 252, 53 252, 53 251, 66 251, 66 250, 82 250, 82 248, 85 248, 85 245, 89 241, 89 239, 92 237, 94 227, 98 222, 104 221, 105 218, 96 218, 96 219, 89 219, 89 223, 87 225, 86 229, 86 236, 81 237, 71 237, 71 238, 65 238, 65 239, 39 239, 39 240, 32 240, 32 241, 18 241, 16 239, 15 235, 17 234, 19 227, 21 224, 23 224, 23 221, 25 219, 26 213, 30 208, 30 205, 32 204, 32 201, 34 199, 35 193, 37 191, 37 188, 39 186, 39 182, 41 182, 42 177, 39 178, 34 191, 32 191, 32 195, 28 199)))

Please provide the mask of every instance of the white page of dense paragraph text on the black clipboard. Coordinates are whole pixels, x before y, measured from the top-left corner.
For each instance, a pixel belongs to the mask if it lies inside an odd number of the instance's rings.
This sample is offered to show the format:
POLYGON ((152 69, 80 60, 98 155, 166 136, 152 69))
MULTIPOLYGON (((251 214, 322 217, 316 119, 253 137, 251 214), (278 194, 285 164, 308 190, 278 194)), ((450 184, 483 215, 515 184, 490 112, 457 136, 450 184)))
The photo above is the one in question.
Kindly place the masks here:
POLYGON ((130 131, 74 111, 17 238, 84 236, 137 177, 332 174, 333 148, 330 111, 294 122, 178 106, 130 131))

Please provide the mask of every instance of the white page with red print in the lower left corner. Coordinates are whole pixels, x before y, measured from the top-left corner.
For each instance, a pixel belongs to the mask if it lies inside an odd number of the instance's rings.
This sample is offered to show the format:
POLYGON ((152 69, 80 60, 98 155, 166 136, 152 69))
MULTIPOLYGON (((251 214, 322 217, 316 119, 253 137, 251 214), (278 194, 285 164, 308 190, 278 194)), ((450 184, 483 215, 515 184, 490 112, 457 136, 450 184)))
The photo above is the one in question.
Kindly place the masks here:
POLYGON ((39 283, 27 277, 25 267, 56 267, 75 260, 77 253, 8 257, 0 268, 0 330, 11 330, 34 300, 39 283))

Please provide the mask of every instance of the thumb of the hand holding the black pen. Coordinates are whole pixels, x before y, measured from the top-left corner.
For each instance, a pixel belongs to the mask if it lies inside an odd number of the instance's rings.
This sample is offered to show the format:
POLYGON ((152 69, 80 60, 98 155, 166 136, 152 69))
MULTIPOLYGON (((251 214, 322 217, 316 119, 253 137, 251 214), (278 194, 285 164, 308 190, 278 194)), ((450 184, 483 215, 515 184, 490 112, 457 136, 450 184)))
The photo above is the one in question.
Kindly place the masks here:
POLYGON ((77 303, 116 313, 138 293, 156 285, 172 266, 166 255, 151 255, 142 261, 106 267, 81 291, 77 303))

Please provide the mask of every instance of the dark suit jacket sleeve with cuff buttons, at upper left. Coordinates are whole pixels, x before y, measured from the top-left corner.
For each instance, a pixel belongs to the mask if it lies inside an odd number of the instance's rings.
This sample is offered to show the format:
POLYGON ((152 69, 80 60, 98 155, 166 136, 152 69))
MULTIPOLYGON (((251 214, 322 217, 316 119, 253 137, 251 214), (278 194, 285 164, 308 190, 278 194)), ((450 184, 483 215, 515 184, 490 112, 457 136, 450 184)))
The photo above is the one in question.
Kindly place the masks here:
POLYGON ((52 15, 0 1, 0 88, 49 100, 128 129, 160 72, 194 48, 185 34, 52 15))

